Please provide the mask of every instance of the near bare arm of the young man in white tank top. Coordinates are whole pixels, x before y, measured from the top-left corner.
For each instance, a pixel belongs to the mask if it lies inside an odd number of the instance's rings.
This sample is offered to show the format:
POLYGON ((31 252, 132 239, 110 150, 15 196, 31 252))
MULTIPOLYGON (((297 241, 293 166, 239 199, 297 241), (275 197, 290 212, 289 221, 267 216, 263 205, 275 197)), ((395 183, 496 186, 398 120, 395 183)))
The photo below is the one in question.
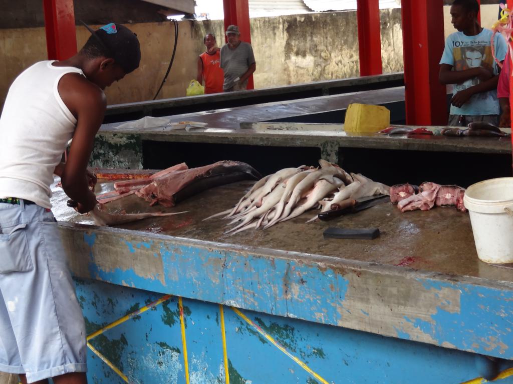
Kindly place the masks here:
POLYGON ((94 137, 103 121, 107 102, 100 88, 77 74, 63 76, 58 85, 58 92, 77 119, 61 182, 66 195, 78 203, 78 212, 86 213, 96 205, 96 197, 89 189, 87 164, 94 137))

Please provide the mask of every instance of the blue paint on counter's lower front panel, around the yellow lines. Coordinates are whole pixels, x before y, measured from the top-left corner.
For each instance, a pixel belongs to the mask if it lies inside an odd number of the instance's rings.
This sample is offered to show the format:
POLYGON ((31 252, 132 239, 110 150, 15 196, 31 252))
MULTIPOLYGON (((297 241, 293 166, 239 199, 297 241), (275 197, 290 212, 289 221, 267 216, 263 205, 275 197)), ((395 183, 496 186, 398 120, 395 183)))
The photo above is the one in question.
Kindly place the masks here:
MULTIPOLYGON (((159 297, 153 292, 98 281, 77 285, 77 293, 86 297, 84 315, 95 323, 94 329, 123 316, 135 303, 146 303, 159 297), (116 297, 119 301, 112 305, 108 297, 116 297), (97 315, 97 309, 102 312, 101 316, 97 315)), ((223 383, 221 324, 215 320, 219 306, 187 298, 183 300, 184 306, 191 309, 185 313, 190 382, 223 383)), ((176 298, 173 298, 172 306, 175 305, 176 298)), ((101 352, 123 370, 130 382, 186 382, 180 322, 164 324, 164 312, 164 305, 157 306, 142 313, 137 322, 127 321, 102 335, 101 352), (116 347, 117 340, 123 341, 123 348, 116 347)), ((472 353, 343 327, 243 312, 253 322, 267 325, 271 337, 329 383, 459 383, 479 376, 472 353)), ((246 332, 245 326, 241 327, 245 322, 228 307, 225 307, 224 321, 230 382, 320 382, 271 343, 261 343, 258 333, 246 332)), ((398 335, 407 336, 400 329, 397 331, 398 335)), ((513 361, 506 361, 501 369, 512 365, 513 361)), ((88 380, 124 383, 91 351, 88 351, 88 380)), ((500 382, 511 384, 513 377, 500 382)))

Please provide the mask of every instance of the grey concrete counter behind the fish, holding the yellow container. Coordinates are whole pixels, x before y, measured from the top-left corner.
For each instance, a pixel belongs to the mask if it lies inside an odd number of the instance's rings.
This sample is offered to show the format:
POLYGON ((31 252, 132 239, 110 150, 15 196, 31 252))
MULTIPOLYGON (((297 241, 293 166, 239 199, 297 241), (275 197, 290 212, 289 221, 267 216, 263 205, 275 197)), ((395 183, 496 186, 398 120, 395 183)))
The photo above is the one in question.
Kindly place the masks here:
POLYGON ((256 132, 240 128, 241 123, 259 121, 301 120, 302 122, 342 123, 345 109, 352 102, 387 106, 391 110, 392 123, 404 118, 404 88, 399 87, 372 92, 257 104, 165 118, 166 124, 181 121, 207 123, 204 129, 194 129, 190 132, 171 130, 166 125, 141 129, 131 122, 124 123, 121 127, 120 123, 104 124, 97 136, 91 165, 97 167, 142 167, 144 162, 143 144, 148 142, 246 145, 255 148, 315 148, 319 151, 318 156, 334 163, 342 163, 345 148, 491 155, 511 153, 509 138, 349 135, 344 132, 321 131, 256 132))

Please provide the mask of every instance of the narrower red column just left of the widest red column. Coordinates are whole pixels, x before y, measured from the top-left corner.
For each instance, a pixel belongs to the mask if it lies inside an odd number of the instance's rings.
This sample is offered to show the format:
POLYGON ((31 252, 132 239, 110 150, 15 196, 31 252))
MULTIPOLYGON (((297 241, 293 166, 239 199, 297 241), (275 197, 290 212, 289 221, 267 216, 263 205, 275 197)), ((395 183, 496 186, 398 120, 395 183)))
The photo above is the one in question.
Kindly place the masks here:
POLYGON ((379 0, 357 0, 360 76, 383 73, 379 0))

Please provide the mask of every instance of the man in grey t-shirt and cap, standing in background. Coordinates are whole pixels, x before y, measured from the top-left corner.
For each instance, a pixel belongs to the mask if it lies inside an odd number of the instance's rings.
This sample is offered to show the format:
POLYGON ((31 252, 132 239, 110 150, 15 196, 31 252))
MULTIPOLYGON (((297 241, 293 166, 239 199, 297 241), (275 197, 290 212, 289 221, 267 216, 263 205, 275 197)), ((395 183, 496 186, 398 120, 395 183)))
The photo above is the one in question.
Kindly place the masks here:
POLYGON ((248 42, 241 41, 239 27, 231 25, 226 29, 228 44, 221 48, 220 67, 224 70, 224 92, 243 91, 248 78, 257 68, 253 49, 248 42))

